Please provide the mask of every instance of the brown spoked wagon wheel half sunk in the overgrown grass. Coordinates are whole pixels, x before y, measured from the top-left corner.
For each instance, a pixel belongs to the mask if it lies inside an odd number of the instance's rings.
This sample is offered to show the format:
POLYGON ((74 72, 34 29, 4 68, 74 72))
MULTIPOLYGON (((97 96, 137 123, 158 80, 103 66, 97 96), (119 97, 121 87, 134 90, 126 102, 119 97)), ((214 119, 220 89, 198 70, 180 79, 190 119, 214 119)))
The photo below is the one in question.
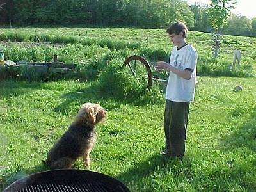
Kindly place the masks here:
POLYGON ((148 90, 152 87, 152 70, 145 58, 132 55, 124 61, 123 68, 132 74, 138 81, 147 84, 148 90))

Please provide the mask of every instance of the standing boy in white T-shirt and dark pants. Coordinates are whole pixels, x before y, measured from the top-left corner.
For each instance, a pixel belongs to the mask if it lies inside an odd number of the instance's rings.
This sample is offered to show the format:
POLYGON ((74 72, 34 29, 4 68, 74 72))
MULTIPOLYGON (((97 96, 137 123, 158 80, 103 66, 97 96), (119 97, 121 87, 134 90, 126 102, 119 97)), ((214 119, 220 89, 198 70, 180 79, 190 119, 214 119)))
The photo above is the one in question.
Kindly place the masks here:
POLYGON ((156 70, 170 72, 164 111, 164 154, 182 159, 185 152, 189 103, 193 102, 195 95, 197 53, 192 45, 186 43, 188 29, 183 22, 173 23, 166 32, 175 45, 170 63, 159 61, 155 65, 156 70))

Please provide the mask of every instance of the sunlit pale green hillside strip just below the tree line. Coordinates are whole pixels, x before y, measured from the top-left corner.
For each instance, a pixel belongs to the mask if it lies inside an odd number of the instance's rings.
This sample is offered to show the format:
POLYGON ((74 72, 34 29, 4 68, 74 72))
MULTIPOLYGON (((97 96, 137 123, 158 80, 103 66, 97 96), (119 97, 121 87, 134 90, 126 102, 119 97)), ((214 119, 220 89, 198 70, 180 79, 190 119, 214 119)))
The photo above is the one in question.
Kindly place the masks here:
MULTIPOLYGON (((111 40, 125 40, 128 42, 138 42, 143 47, 149 45, 159 47, 165 51, 170 51, 170 44, 164 29, 124 29, 124 28, 17 28, 0 29, 0 34, 19 34, 20 36, 68 36, 80 39, 102 38, 111 40)), ((18 40, 19 38, 17 38, 18 40)), ((189 31, 187 40, 194 45, 199 53, 211 52, 211 34, 196 31, 189 31)), ((221 43, 221 51, 230 56, 235 49, 241 49, 244 59, 254 59, 256 57, 256 38, 244 36, 224 35, 221 43)))

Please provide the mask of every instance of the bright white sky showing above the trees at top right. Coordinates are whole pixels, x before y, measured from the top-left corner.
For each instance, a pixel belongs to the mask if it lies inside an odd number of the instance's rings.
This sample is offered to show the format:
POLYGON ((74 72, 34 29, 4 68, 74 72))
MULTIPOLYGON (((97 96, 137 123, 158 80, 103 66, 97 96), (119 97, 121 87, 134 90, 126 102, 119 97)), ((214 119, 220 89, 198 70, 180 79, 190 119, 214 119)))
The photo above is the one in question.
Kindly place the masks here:
MULTIPOLYGON (((188 4, 210 4, 210 0, 187 0, 188 4)), ((256 17, 256 1, 255 0, 237 0, 236 8, 231 11, 232 14, 241 14, 248 19, 256 17)))

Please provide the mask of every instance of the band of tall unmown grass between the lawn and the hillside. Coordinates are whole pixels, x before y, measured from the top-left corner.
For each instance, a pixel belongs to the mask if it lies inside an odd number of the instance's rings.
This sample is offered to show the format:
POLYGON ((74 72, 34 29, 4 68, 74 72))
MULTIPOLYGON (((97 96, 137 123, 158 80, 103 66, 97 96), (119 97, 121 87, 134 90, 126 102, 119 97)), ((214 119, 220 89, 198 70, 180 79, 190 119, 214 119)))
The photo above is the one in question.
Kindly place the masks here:
MULTIPOLYGON (((4 56, 6 60, 15 62, 51 62, 53 54, 58 54, 58 61, 60 62, 77 63, 77 76, 74 74, 72 77, 83 81, 97 78, 97 75, 108 66, 110 61, 118 61, 120 65, 122 65, 125 58, 132 54, 144 56, 146 60, 150 62, 150 65, 154 65, 154 62, 156 61, 168 61, 168 53, 161 49, 156 49, 155 47, 138 50, 126 48, 120 49, 119 51, 111 51, 107 47, 102 48, 99 45, 83 46, 82 44, 67 44, 65 46, 38 45, 28 47, 26 45, 11 43, 4 47, 4 56)), ((231 62, 227 58, 215 59, 212 58, 210 54, 201 54, 198 58, 197 71, 200 76, 255 76, 252 64, 244 62, 240 68, 232 68, 232 64, 230 63, 231 62)), ((1 79, 15 77, 13 75, 8 76, 8 74, 13 74, 13 71, 15 71, 15 69, 12 69, 11 72, 7 72, 6 74, 6 69, 4 70, 3 68, 0 68, 0 73, 4 73, 4 75, 1 76, 1 79)), ((155 77, 161 79, 168 78, 168 74, 165 73, 159 74, 153 71, 153 74, 155 77)), ((22 76, 17 77, 21 78, 22 76)), ((40 77, 33 79, 40 79, 40 77)), ((44 79, 53 80, 54 76, 48 76, 44 79)))

